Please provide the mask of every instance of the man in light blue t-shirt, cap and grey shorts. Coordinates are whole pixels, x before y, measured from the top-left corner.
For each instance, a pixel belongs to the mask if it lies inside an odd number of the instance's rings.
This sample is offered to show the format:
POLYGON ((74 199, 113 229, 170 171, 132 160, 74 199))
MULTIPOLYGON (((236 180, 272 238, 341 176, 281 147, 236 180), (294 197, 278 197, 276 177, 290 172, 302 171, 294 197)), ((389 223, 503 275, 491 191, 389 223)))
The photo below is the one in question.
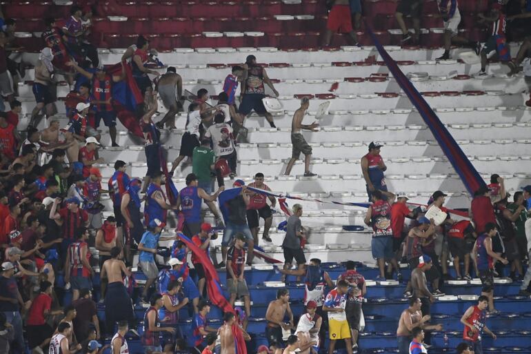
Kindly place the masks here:
POLYGON ((146 230, 140 240, 139 264, 142 268, 142 273, 148 278, 142 291, 142 299, 144 302, 147 302, 148 290, 154 281, 157 280, 157 275, 159 275, 159 269, 154 258, 154 255, 157 254, 157 244, 159 244, 159 241, 175 239, 175 237, 161 237, 164 226, 166 224, 161 222, 161 220, 152 219, 148 224, 148 230, 146 230))

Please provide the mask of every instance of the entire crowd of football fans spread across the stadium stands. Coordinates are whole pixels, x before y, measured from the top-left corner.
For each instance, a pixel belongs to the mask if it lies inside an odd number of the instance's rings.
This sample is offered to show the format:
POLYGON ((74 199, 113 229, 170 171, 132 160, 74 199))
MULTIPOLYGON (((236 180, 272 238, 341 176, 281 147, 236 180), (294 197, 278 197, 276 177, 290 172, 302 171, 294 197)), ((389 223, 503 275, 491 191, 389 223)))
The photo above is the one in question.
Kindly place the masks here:
MULTIPOLYGON (((421 3, 403 0, 397 8, 404 43, 419 41, 421 3), (406 14, 414 19, 413 37, 405 28, 406 14)), ((481 55, 481 72, 485 72, 487 59, 494 52, 512 72, 517 72, 525 57, 530 56, 530 45, 529 41, 524 42, 517 62, 510 61, 505 46, 504 5, 495 2, 488 14, 481 15, 482 21, 492 23, 491 37, 481 49, 479 43, 457 36, 457 1, 440 1, 446 32, 445 52, 439 59, 449 59, 450 46, 457 43, 481 55)), ((361 26, 360 1, 337 0, 330 6, 325 44, 330 44, 332 32, 348 32, 356 42, 352 23, 355 28, 361 26)), ((204 88, 197 95, 183 96, 183 79, 173 67, 159 74, 157 52, 149 48, 150 43, 143 36, 126 50, 121 63, 106 68, 89 40, 92 10, 72 6, 70 14, 65 21, 45 21, 45 47, 35 65, 32 86, 37 105, 23 131, 19 130, 21 102, 16 99, 17 81, 13 79, 23 78, 28 58, 12 52, 17 48, 15 21, 1 16, 0 89, 10 110, 0 112, 0 247, 4 250, 0 351, 95 354, 110 348, 112 354, 126 354, 126 337, 132 335, 140 337, 146 353, 210 354, 220 347, 221 353, 235 353, 235 333, 250 340, 246 328, 252 308, 246 266, 253 263, 254 246, 272 242, 269 230, 277 199, 257 193, 256 190, 270 191, 263 173, 257 172, 248 186, 241 179, 232 181, 230 187, 241 190, 223 205, 225 217, 215 201, 226 188, 224 177, 233 180, 237 176, 237 146, 246 139, 246 116, 254 111, 274 128, 273 117, 262 99, 266 97, 265 86, 274 95, 279 92, 257 58, 249 55, 245 63, 232 66, 215 106, 208 104, 210 95, 204 88), (131 177, 127 174, 128 161, 117 160, 114 173, 105 184, 97 164, 113 161, 99 157, 98 128, 103 120, 110 145, 119 146, 117 117, 123 107, 114 97, 113 88, 126 80, 128 70, 143 97, 132 117, 139 122, 148 170, 143 180, 131 177), (59 75, 72 90, 65 101, 69 119, 65 127, 60 126, 56 116, 59 75), (157 97, 167 112, 154 122, 157 97), (186 100, 191 102, 181 150, 169 173, 165 173, 161 130, 176 128, 175 116, 183 111, 186 100), (191 162, 192 173, 186 176, 186 187, 171 197, 171 189, 166 189, 170 184, 167 179, 185 159, 191 162), (112 199, 112 210, 106 210, 112 211, 112 216, 105 220, 101 217, 105 209, 103 194, 112 199), (205 222, 201 213, 203 201, 214 215, 216 226, 205 222), (184 239, 163 233, 170 227, 168 212, 172 210, 179 215, 177 230, 191 240, 197 252, 192 252, 184 239), (221 229, 219 259, 211 242, 221 229), (159 242, 170 242, 170 247, 164 248, 159 242), (211 279, 206 262, 226 268, 224 285, 230 294, 230 306, 243 300, 243 308, 223 315, 220 328, 208 324, 207 315, 214 304, 207 291, 211 279), (139 286, 132 266, 138 266, 146 277, 140 293, 135 291, 139 286), (99 288, 93 293, 98 272, 99 288), (104 320, 97 311, 97 301, 105 306, 104 320), (137 333, 135 304, 147 306, 141 335, 137 333), (178 325, 181 308, 188 309, 192 319, 186 332, 178 325), (108 344, 102 346, 103 342, 108 344)), ((514 21, 527 19, 519 14, 511 16, 514 21)), ((310 171, 312 147, 301 134, 301 130, 317 132, 319 128, 317 123, 302 124, 308 107, 309 99, 303 98, 294 113, 292 157, 285 175, 290 175, 303 153, 303 175, 315 176, 310 171)), ((396 275, 401 282, 399 263, 410 266, 411 277, 403 294, 410 298, 409 307, 401 314, 397 328, 399 352, 426 353, 430 332, 442 330, 441 324, 431 322, 430 304, 444 295, 444 281, 452 280, 449 267, 453 260, 457 276, 454 280, 470 281, 475 275, 482 283, 477 305, 468 308, 461 318, 463 344, 457 352, 482 353, 481 334, 496 337, 486 326, 485 317, 486 313, 499 312, 494 307, 494 277, 503 276, 504 266, 508 266, 512 280, 522 282, 520 294, 531 295, 531 270, 528 268, 525 274, 523 271, 523 264, 531 258, 531 186, 511 196, 503 179, 492 175, 490 184, 475 193, 468 218, 463 218, 462 213, 454 217, 454 210, 444 206, 447 195, 440 190, 425 206, 410 208, 407 195, 392 193, 385 184, 387 166, 381 156, 382 147, 373 141, 368 154, 361 158, 371 202, 365 224, 372 230, 377 281, 396 275)), ((284 265, 276 271, 281 273, 283 282, 291 276, 305 283, 304 312, 293 313, 288 289, 279 289, 265 315, 268 346, 259 346, 257 353, 317 354, 326 350, 332 354, 343 345, 348 353, 355 353, 359 350, 359 331, 363 329, 365 278, 352 260, 344 262, 345 271, 337 280, 323 269, 321 259, 307 261, 304 245, 308 230, 302 225, 302 216, 303 207, 295 204, 285 226, 284 265)))

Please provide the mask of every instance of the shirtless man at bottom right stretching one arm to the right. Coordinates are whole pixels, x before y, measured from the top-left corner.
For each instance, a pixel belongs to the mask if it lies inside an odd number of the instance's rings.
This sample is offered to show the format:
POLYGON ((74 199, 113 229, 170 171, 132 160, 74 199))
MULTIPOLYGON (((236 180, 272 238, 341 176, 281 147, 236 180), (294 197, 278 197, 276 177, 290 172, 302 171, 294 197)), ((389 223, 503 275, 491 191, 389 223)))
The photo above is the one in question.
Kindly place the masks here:
POLYGON ((402 311, 399 319, 399 326, 397 328, 397 342, 399 348, 399 354, 408 354, 409 345, 411 342, 411 331, 415 327, 423 329, 432 329, 434 331, 442 331, 443 326, 436 324, 432 326, 425 325, 430 321, 430 315, 422 315, 421 312, 422 302, 418 297, 410 298, 410 306, 402 311))

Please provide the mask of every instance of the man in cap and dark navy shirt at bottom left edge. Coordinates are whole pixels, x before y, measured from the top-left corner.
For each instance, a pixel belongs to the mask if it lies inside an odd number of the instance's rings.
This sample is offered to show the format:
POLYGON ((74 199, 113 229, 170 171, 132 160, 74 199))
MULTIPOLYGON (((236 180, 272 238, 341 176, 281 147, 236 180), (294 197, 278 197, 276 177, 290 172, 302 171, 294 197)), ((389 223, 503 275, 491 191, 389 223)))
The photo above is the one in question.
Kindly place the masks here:
POLYGON ((14 341, 12 342, 12 353, 23 353, 26 348, 23 337, 22 317, 20 308, 24 306, 22 296, 19 293, 17 281, 13 275, 16 271, 11 262, 2 263, 0 275, 0 312, 6 315, 14 329, 14 341))

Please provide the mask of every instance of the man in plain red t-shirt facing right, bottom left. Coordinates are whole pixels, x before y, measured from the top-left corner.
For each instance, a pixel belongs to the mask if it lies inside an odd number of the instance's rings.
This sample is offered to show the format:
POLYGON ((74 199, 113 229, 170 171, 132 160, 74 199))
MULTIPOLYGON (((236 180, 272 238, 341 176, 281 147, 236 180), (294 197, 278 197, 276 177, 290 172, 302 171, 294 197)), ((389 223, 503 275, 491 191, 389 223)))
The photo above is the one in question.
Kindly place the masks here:
MULTIPOLYGON (((41 293, 33 299, 26 322, 26 334, 32 351, 34 348, 39 347, 42 352, 50 343, 54 330, 46 323, 47 317, 63 313, 61 310, 50 311, 52 308, 51 295, 52 283, 41 282, 41 293)), ((39 352, 39 350, 36 352, 39 352)))

